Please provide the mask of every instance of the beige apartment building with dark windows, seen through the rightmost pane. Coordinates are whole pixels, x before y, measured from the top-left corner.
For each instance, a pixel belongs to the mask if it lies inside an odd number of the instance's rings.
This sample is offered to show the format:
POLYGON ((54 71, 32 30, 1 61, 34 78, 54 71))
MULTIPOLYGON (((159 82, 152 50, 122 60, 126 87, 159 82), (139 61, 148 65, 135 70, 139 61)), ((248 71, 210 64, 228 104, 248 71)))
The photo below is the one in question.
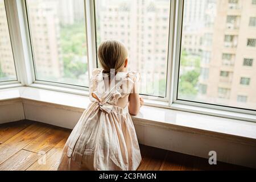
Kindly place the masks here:
POLYGON ((211 44, 201 46, 204 57, 201 69, 205 76, 200 79, 199 97, 216 104, 255 108, 256 5, 253 2, 216 1, 215 23, 208 32, 207 42, 211 44))

